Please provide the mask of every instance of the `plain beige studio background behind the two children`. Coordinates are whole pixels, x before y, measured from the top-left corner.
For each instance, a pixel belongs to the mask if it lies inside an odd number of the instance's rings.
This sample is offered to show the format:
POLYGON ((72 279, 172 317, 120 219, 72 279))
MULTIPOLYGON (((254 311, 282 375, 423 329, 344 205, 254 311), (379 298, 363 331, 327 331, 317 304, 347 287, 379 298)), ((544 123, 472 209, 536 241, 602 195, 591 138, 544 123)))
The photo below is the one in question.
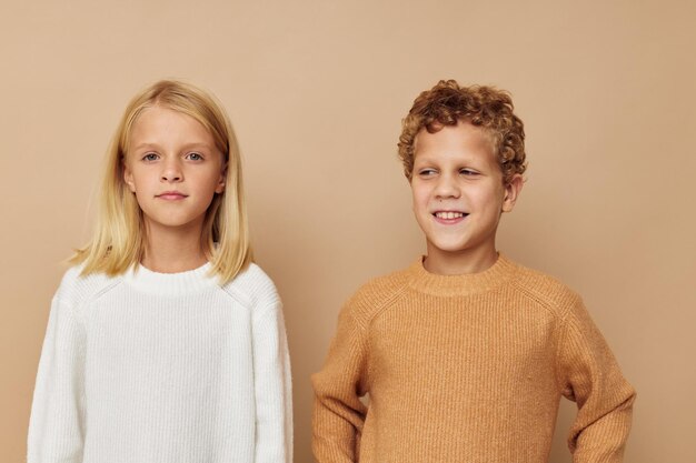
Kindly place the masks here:
MULTIPOLYGON (((584 294, 639 392, 626 461, 696 461, 696 3, 101 3, 0 6, 0 461, 23 460, 50 298, 88 236, 102 153, 163 77, 212 90, 240 139, 257 260, 286 303, 297 462, 340 304, 424 250, 396 141, 440 78, 514 94, 530 169, 499 248, 584 294)), ((569 461, 571 416, 553 462, 569 461)))

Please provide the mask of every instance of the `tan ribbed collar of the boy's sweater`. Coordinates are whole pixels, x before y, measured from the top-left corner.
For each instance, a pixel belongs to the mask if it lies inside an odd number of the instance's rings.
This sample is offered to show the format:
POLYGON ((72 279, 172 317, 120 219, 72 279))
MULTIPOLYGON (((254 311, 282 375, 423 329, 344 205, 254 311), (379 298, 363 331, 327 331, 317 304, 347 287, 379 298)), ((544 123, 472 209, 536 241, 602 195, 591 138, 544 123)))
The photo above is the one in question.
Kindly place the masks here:
POLYGON ((496 262, 478 273, 440 275, 428 272, 422 265, 424 256, 408 269, 410 286, 434 295, 468 295, 493 290, 509 281, 517 272, 517 265, 503 254, 496 262))

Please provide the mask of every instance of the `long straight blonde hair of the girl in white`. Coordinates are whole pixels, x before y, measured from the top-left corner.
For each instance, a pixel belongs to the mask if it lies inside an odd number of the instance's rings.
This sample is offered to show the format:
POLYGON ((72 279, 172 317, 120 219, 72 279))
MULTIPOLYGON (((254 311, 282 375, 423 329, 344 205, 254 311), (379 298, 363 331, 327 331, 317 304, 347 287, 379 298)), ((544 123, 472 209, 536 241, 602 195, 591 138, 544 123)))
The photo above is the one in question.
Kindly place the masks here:
POLYGON ((142 211, 123 181, 123 161, 130 133, 140 113, 153 105, 190 115, 210 131, 227 165, 226 188, 208 207, 201 246, 221 283, 232 280, 251 262, 241 159, 235 132, 221 107, 203 90, 186 82, 162 80, 138 93, 126 108, 107 152, 97 223, 91 241, 76 251, 70 263, 82 274, 122 274, 145 252, 142 211))

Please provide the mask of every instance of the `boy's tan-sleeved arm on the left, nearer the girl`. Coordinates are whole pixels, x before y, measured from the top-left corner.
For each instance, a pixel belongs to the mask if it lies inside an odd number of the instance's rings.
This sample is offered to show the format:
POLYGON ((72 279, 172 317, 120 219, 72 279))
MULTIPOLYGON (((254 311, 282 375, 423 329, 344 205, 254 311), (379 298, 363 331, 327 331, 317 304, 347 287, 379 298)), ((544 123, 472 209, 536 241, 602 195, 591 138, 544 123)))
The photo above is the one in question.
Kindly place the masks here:
POLYGON ((366 334, 349 308, 345 308, 324 369, 312 375, 312 451, 319 463, 358 461, 367 412, 360 402, 367 392, 366 334))

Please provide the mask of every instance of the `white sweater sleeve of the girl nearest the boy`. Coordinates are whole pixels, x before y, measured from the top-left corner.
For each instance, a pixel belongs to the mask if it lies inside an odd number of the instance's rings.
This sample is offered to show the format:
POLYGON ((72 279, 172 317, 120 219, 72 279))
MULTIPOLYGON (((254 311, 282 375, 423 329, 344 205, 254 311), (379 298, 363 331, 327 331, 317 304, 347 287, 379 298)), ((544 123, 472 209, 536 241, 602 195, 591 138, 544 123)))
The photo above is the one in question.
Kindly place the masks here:
POLYGON ((292 390, 282 304, 277 300, 253 320, 256 463, 292 461, 292 390))

